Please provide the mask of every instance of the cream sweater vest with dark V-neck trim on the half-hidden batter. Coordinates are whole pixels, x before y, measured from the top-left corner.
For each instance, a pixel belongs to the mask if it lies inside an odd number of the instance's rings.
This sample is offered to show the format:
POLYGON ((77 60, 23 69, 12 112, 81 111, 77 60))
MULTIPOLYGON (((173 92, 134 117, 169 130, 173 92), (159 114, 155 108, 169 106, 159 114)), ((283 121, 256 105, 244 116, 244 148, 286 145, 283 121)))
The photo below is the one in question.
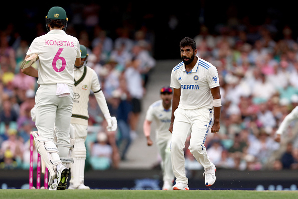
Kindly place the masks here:
POLYGON ((101 90, 96 72, 88 67, 82 66, 74 69, 75 83, 72 87, 74 101, 72 108, 71 123, 88 125, 88 102, 90 90, 97 93, 101 90))

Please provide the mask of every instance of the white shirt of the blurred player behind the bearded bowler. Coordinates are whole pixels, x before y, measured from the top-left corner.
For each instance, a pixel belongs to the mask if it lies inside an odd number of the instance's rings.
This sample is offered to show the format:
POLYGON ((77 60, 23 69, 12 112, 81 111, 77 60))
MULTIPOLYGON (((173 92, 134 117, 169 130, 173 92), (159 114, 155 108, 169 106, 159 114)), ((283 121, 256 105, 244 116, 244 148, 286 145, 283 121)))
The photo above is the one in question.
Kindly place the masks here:
POLYGON ((156 122, 156 139, 170 139, 172 134, 169 131, 172 116, 172 107, 165 110, 163 101, 160 99, 153 103, 147 110, 146 120, 156 122))

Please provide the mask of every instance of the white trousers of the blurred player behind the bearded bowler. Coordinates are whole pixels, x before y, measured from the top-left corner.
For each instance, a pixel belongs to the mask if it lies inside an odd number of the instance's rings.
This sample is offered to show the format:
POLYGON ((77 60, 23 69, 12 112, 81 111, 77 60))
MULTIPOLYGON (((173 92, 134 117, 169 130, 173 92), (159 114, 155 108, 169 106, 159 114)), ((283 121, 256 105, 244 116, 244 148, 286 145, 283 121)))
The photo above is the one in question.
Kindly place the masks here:
POLYGON ((164 182, 168 181, 170 184, 172 184, 174 181, 174 173, 172 169, 170 146, 171 146, 171 139, 157 140, 157 148, 162 157, 161 166, 163 170, 163 180, 164 182))

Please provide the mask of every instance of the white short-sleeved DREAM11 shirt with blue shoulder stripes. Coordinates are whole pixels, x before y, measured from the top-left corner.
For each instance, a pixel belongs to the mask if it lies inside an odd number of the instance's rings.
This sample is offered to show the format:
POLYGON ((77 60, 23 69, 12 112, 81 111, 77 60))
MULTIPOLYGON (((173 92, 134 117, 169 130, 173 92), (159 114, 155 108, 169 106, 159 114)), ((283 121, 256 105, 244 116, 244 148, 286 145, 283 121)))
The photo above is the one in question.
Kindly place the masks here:
POLYGON ((210 88, 219 86, 218 72, 211 63, 198 57, 194 68, 187 72, 185 64, 180 62, 172 70, 171 87, 181 88, 179 108, 212 109, 210 88))

